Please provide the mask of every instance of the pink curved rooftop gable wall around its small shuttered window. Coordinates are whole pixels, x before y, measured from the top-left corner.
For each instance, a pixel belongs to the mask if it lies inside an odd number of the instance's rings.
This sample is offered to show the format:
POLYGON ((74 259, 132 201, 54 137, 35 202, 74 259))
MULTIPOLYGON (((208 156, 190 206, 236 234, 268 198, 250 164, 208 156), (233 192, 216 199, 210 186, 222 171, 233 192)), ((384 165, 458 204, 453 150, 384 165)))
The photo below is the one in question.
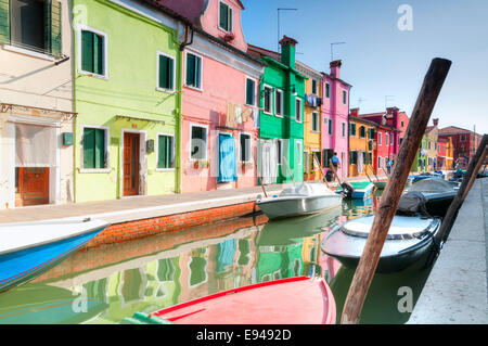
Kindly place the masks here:
POLYGON ((206 9, 204 15, 201 18, 202 28, 214 37, 223 38, 226 30, 219 27, 219 8, 220 2, 226 3, 232 8, 232 34, 234 39, 228 41, 229 44, 242 50, 247 51, 247 43, 244 38, 244 34, 241 26, 241 11, 242 7, 235 0, 210 0, 208 8, 206 9))

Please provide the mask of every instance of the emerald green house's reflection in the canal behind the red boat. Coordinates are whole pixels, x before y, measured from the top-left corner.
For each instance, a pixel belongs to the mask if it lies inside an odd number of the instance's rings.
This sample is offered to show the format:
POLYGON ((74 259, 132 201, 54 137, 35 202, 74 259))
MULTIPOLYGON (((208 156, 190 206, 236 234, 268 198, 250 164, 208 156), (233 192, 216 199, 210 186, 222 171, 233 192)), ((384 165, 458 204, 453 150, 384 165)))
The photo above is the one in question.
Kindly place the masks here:
POLYGON ((260 246, 257 264, 258 282, 300 275, 304 267, 301 247, 303 243, 260 246))

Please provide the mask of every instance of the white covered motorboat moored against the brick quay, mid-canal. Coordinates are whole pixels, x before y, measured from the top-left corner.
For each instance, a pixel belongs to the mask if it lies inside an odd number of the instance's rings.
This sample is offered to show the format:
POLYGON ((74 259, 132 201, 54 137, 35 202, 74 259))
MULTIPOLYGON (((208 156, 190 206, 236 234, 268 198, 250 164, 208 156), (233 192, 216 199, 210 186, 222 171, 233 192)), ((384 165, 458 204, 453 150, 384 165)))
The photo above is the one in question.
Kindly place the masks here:
POLYGON ((320 213, 342 205, 341 195, 322 183, 303 182, 284 189, 280 195, 258 196, 256 205, 269 219, 320 213))

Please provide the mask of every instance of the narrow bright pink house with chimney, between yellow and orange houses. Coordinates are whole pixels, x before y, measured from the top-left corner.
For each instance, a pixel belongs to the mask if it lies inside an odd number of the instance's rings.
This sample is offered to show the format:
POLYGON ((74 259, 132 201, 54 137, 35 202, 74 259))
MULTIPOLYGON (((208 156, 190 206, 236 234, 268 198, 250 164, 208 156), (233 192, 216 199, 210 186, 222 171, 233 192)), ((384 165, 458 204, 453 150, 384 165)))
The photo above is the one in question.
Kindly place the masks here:
POLYGON ((331 73, 322 79, 322 157, 324 166, 337 153, 341 167, 337 171, 343 179, 348 171, 348 116, 351 86, 341 79, 342 62, 331 62, 331 73))

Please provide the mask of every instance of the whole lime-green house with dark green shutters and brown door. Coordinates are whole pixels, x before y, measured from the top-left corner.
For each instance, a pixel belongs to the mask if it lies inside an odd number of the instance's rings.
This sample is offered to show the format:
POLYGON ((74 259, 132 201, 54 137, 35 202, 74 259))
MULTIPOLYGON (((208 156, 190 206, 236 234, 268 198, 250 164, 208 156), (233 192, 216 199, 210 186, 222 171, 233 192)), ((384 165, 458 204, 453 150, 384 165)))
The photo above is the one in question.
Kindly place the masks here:
POLYGON ((179 192, 177 20, 153 2, 73 7, 75 201, 179 192))

